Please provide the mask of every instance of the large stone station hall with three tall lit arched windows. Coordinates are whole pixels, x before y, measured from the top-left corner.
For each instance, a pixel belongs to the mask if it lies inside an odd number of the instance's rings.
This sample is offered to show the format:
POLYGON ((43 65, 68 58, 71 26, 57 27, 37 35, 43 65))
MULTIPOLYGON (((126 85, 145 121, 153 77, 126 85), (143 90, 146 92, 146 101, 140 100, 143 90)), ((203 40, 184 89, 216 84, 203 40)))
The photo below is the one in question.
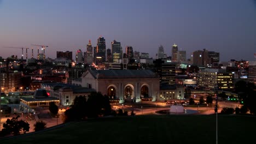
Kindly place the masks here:
POLYGON ((160 92, 159 80, 159 75, 151 70, 88 69, 72 84, 106 94, 110 103, 124 103, 156 101, 160 92))

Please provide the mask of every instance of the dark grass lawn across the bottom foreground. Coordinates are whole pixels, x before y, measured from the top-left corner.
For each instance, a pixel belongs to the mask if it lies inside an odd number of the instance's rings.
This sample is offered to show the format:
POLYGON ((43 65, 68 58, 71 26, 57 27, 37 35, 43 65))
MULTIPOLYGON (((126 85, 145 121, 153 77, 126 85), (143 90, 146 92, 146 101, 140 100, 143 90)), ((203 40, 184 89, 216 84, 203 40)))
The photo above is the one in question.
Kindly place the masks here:
MULTIPOLYGON (((218 115, 218 143, 254 143, 256 117, 218 115)), ((214 115, 148 115, 91 119, 0 143, 216 143, 214 115)))

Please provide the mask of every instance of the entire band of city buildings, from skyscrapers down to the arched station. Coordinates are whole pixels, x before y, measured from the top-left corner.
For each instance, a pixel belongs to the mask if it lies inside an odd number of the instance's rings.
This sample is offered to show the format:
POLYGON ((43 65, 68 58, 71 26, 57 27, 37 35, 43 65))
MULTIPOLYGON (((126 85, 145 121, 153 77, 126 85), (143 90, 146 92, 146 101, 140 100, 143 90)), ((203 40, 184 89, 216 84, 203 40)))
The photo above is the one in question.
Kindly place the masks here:
POLYGON ((238 80, 256 83, 255 62, 219 62, 219 52, 206 49, 194 51, 187 58, 177 44, 169 49, 171 56, 162 45, 156 51, 155 58, 133 51, 129 45, 123 51, 117 40, 106 49, 106 41, 100 36, 96 46, 89 40, 85 49, 76 50, 75 60, 72 51, 56 51, 55 59, 24 61, 11 56, 1 59, 1 92, 43 88, 50 97, 60 99, 61 105, 70 105, 75 95, 94 91, 108 95, 115 103, 124 103, 184 99, 188 88, 214 91, 218 87, 219 91, 232 92, 238 80))

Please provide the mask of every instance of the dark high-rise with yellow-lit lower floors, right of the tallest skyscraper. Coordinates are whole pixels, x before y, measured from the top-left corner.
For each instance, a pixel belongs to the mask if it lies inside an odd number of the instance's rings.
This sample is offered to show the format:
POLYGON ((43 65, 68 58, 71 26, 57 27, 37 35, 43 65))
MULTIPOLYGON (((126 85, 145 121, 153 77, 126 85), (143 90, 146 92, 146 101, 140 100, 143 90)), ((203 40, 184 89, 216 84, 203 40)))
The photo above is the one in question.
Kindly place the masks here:
POLYGON ((112 61, 113 63, 118 63, 118 59, 122 59, 123 50, 121 47, 121 43, 113 40, 111 42, 111 51, 112 51, 112 61))

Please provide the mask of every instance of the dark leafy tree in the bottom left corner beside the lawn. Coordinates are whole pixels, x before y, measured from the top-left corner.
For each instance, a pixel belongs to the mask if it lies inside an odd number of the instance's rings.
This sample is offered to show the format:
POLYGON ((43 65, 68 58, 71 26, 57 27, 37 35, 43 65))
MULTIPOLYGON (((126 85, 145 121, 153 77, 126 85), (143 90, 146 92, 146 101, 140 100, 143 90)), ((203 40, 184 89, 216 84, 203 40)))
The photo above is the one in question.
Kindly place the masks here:
POLYGON ((20 131, 26 134, 26 131, 30 130, 30 124, 22 120, 18 120, 20 116, 7 119, 6 123, 3 124, 2 133, 3 135, 20 135, 20 131))

